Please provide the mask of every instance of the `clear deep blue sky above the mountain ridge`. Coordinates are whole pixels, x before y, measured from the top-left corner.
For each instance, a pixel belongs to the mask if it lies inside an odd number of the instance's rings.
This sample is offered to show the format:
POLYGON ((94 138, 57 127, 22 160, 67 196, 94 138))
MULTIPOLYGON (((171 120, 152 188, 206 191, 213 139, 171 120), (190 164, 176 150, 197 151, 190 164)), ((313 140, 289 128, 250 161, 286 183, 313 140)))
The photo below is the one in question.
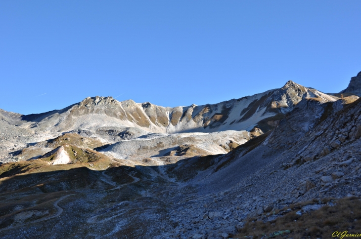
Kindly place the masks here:
POLYGON ((2 0, 0 108, 218 103, 361 71, 361 0, 2 0))

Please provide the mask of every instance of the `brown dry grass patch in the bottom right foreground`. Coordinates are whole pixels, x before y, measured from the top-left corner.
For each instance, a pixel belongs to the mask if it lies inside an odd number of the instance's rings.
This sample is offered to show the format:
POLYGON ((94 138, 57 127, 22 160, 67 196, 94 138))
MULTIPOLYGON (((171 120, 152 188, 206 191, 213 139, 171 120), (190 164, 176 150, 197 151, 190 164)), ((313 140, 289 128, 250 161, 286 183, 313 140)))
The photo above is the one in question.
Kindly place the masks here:
MULTIPOLYGON (((332 201, 323 199, 322 203, 332 201)), ((287 235, 279 235, 273 238, 332 238, 335 231, 348 231, 349 234, 361 232, 361 199, 352 197, 333 200, 335 205, 324 204, 320 209, 310 211, 302 215, 296 214, 302 206, 315 202, 304 202, 290 205, 292 211, 271 222, 264 223, 249 219, 244 228, 234 237, 243 238, 253 236, 254 239, 269 237, 272 233, 289 230, 287 235)), ((287 208, 282 209, 285 211, 287 208)), ((278 213, 278 212, 275 212, 278 213)), ((265 215, 264 215, 265 216, 265 215)))

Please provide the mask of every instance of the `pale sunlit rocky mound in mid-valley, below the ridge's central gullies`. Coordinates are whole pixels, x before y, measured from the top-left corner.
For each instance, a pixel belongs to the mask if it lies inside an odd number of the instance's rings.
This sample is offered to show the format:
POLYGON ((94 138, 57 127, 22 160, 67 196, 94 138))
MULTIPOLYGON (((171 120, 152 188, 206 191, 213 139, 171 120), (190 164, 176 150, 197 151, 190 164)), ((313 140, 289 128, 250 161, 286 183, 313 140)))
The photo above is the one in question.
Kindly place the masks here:
POLYGON ((117 142, 101 152, 117 159, 128 157, 162 157, 179 155, 180 146, 192 146, 197 155, 226 154, 231 148, 247 142, 252 135, 247 131, 227 130, 216 133, 151 134, 117 142))

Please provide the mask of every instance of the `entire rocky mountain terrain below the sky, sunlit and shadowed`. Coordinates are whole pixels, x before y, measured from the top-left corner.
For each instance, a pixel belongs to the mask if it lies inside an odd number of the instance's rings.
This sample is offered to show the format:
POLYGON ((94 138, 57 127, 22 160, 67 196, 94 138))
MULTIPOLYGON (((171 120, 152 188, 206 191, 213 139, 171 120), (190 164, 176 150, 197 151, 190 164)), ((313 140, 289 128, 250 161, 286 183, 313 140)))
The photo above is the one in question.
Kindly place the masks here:
MULTIPOLYGON (((327 238, 287 227, 361 196, 361 100, 338 96, 289 81, 207 106, 95 97, 40 115, 2 111, 1 146, 20 149, 0 165, 1 237, 266 238, 254 226, 327 238)), ((358 230, 354 211, 345 230, 358 230)))

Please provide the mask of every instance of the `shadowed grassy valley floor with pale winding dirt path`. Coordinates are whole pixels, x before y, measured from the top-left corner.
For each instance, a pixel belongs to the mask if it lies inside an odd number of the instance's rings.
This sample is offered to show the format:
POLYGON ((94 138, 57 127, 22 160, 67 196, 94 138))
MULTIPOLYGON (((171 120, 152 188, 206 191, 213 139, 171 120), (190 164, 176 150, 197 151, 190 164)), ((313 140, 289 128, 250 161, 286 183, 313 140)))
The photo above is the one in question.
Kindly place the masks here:
POLYGON ((56 170, 55 165, 46 169, 50 171, 35 172, 40 166, 34 160, 27 162, 28 170, 20 175, 11 169, 0 175, 0 231, 5 238, 24 238, 29 227, 37 238, 123 238, 106 237, 122 220, 129 223, 118 233, 142 238, 149 226, 164 220, 167 207, 162 188, 168 182, 161 175, 154 177, 151 167, 115 166, 96 171, 84 166, 56 170), (150 189, 154 197, 144 197, 142 192, 150 189), (151 221, 147 215, 152 215, 151 221), (116 220, 107 219, 113 217, 116 220))

